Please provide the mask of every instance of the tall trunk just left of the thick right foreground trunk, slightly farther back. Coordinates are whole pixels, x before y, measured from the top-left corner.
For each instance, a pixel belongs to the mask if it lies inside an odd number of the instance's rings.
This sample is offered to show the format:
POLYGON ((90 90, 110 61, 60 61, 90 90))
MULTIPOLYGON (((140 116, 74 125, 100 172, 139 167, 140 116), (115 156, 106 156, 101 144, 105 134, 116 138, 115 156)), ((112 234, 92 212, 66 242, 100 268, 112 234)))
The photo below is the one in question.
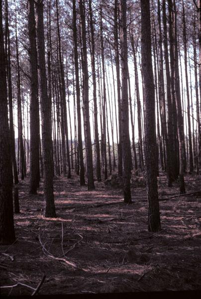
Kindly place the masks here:
POLYGON ((128 111, 128 53, 127 53, 127 25, 126 0, 120 0, 121 17, 121 134, 123 156, 123 195, 124 202, 131 203, 130 192, 130 139, 129 139, 129 111, 128 111))

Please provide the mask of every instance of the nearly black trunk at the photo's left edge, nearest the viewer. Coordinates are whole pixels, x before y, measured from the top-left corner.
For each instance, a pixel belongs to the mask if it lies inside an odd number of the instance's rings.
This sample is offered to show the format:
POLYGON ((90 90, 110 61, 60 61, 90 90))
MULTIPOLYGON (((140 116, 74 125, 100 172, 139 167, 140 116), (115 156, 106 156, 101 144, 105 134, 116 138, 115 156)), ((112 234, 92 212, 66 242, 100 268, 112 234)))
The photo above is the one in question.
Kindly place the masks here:
POLYGON ((0 245, 15 241, 12 204, 12 162, 7 117, 6 58, 3 46, 2 0, 0 0, 0 245))

